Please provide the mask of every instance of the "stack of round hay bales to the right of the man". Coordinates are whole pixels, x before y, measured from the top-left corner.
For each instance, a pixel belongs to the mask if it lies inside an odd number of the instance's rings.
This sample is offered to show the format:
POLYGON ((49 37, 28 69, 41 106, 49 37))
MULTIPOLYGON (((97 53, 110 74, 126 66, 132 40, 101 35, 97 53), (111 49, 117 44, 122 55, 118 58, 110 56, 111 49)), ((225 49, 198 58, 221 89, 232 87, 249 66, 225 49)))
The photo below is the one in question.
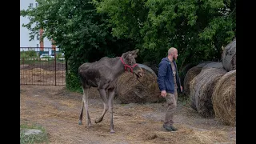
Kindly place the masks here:
POLYGON ((235 126, 236 39, 222 52, 222 62, 202 63, 187 71, 184 92, 190 96, 190 107, 204 118, 216 116, 235 126))

